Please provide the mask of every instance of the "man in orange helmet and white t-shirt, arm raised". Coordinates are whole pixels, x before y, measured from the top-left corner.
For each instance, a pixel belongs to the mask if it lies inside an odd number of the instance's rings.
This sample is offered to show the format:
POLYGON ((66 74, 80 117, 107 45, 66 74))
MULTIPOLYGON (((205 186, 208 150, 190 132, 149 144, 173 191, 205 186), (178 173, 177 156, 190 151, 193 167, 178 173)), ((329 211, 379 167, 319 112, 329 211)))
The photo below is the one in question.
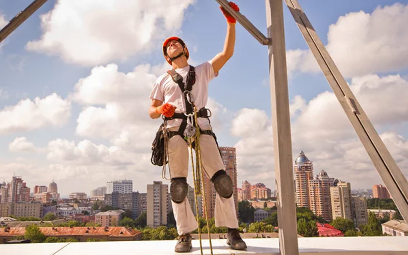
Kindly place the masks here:
MULTIPOLYGON (((229 5, 239 11, 236 4, 230 2, 229 5)), ((214 184, 216 194, 215 201, 215 225, 228 227, 227 243, 233 249, 245 249, 246 244, 241 239, 238 228, 238 219, 235 211, 233 196, 233 183, 231 177, 225 172, 225 166, 222 163, 218 145, 211 131, 211 125, 207 117, 205 106, 208 100, 208 83, 218 75, 218 71, 230 59, 234 52, 235 45, 235 23, 236 20, 223 8, 221 11, 227 19, 227 32, 224 42, 224 48, 212 60, 204 62, 194 68, 195 83, 191 88, 191 97, 196 109, 203 109, 204 117, 197 119, 198 125, 203 133, 200 135, 200 151, 202 168, 205 174, 214 184)), ((181 75, 183 84, 189 84, 187 77, 191 73, 187 60, 189 52, 187 46, 178 37, 170 37, 163 43, 163 54, 173 70, 181 75)), ((194 72, 193 72, 194 74, 194 72)), ((182 86, 182 85, 180 85, 182 86)), ((186 104, 186 98, 169 73, 161 75, 154 84, 150 94, 152 100, 149 109, 151 118, 159 118, 163 114, 167 121, 165 128, 172 135, 168 142, 169 171, 171 177, 170 194, 173 207, 174 218, 177 225, 179 238, 175 246, 176 252, 188 252, 191 250, 190 232, 197 228, 197 221, 191 211, 190 203, 187 199, 187 173, 188 173, 188 144, 184 139, 186 131, 183 126, 183 119, 174 116, 183 116, 189 110, 189 104, 186 104)), ((201 113, 201 111, 200 111, 201 113)), ((202 116, 202 115, 197 115, 202 116)), ((191 124, 191 123, 190 123, 191 124)), ((199 132, 199 131, 197 131, 199 132)))

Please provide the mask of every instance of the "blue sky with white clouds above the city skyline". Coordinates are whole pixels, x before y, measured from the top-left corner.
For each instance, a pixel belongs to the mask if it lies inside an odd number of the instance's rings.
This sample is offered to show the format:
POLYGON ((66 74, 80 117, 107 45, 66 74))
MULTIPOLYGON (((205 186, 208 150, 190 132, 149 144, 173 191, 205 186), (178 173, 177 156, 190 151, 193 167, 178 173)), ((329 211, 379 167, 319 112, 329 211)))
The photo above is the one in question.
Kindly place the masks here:
MULTIPOLYGON (((0 0, 0 28, 31 2, 0 0)), ((147 113, 152 85, 170 69, 162 43, 180 36, 198 65, 221 52, 226 33, 216 1, 163 3, 48 0, 0 43, 0 182, 54 180, 67 197, 122 179, 145 192, 162 180, 150 163, 161 120, 147 113)), ((408 176, 408 1, 299 3, 408 176)), ((236 4, 266 35, 265 1, 236 4)), ((284 25, 293 160, 303 150, 315 174, 324 169, 352 189, 381 184, 285 5, 284 25)), ((237 24, 234 56, 210 83, 207 107, 219 145, 236 148, 239 187, 275 188, 268 72, 267 46, 237 24)))

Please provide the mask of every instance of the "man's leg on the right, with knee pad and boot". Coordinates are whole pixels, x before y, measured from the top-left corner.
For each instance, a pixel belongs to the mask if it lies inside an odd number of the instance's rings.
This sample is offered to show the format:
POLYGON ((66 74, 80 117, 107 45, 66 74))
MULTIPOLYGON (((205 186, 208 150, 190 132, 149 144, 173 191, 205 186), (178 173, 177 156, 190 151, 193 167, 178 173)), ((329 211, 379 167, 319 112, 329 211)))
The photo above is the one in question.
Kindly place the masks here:
POLYGON ((245 249, 238 228, 237 213, 234 202, 234 185, 231 177, 225 172, 221 156, 214 138, 211 135, 200 136, 201 161, 203 169, 211 178, 217 194, 215 196, 215 226, 228 227, 227 244, 233 249, 245 249))

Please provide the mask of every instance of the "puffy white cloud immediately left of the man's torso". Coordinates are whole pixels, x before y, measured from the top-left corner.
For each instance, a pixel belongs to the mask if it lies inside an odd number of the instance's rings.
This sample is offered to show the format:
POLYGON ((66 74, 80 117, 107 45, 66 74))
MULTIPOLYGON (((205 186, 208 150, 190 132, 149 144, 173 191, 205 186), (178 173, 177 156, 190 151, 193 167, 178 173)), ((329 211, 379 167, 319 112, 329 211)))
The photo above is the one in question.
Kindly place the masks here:
POLYGON ((150 72, 150 65, 137 66, 129 73, 118 71, 115 64, 93 68, 71 95, 84 105, 77 119, 77 134, 146 151, 160 125, 160 120, 151 120, 147 113, 148 96, 157 79, 150 72))

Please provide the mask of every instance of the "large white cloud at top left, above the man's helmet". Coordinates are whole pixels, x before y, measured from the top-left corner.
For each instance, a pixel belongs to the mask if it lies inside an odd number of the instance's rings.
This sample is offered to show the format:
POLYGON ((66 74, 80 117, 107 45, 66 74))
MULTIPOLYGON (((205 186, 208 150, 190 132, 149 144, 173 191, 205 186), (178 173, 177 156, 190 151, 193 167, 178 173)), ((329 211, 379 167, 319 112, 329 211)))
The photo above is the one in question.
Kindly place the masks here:
POLYGON ((27 48, 92 66, 146 53, 181 28, 194 0, 59 0, 41 15, 43 34, 27 48))

